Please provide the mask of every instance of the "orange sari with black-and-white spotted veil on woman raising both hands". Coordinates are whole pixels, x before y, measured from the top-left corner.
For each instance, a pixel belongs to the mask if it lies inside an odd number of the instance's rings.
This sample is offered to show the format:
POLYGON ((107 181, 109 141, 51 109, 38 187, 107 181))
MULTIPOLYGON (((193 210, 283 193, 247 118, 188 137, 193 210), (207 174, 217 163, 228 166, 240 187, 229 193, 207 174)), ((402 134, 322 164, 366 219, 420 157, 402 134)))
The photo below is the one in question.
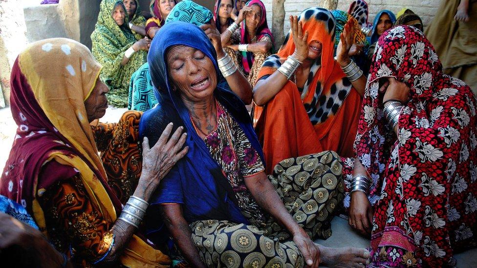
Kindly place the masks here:
MULTIPOLYGON (((336 21, 328 10, 317 7, 305 9, 299 20, 309 32, 308 41, 322 43, 321 61, 311 66, 303 88, 292 78, 264 108, 254 107, 267 174, 290 157, 323 150, 353 155, 361 97, 333 59, 336 21)), ((263 62, 259 79, 273 74, 294 51, 290 31, 279 52, 263 62)))

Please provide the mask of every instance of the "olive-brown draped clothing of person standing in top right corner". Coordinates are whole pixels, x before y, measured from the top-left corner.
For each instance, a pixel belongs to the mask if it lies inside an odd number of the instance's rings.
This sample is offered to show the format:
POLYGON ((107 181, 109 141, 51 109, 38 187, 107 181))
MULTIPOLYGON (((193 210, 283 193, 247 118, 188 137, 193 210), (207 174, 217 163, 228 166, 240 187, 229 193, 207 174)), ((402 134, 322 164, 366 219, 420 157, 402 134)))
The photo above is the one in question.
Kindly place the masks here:
POLYGON ((441 1, 426 36, 444 73, 466 82, 477 93, 477 1, 441 1))

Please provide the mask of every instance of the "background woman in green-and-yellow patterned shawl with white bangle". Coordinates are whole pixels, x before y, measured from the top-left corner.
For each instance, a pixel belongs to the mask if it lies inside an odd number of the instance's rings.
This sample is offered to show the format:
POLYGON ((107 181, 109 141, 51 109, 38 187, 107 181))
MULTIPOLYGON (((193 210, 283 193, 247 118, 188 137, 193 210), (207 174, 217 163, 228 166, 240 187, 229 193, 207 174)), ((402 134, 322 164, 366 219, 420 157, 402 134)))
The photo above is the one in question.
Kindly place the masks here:
POLYGON ((119 0, 101 1, 91 41, 93 55, 104 67, 100 79, 109 87, 109 104, 126 107, 131 75, 146 62, 151 41, 136 40, 128 27, 126 8, 119 0))

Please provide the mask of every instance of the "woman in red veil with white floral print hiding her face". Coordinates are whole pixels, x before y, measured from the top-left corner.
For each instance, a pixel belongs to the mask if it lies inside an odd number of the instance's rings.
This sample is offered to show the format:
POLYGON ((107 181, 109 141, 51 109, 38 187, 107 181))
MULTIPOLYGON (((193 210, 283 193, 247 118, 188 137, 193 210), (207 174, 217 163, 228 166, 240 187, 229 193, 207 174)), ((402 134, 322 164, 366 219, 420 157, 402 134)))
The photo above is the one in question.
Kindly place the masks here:
POLYGON ((476 96, 412 26, 376 48, 345 161, 349 225, 371 234, 370 267, 455 267, 477 242, 476 96))

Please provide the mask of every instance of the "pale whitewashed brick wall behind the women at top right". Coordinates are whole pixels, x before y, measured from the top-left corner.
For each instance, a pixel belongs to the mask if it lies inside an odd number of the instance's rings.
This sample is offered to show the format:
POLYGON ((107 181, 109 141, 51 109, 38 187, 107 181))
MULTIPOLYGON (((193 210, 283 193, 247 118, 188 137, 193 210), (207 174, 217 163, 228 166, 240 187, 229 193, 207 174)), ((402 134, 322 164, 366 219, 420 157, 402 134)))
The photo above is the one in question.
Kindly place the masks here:
MULTIPOLYGON (((272 21, 272 0, 262 0, 267 9, 267 21, 270 27, 272 21)), ((288 32, 290 29, 288 16, 299 15, 302 10, 312 6, 319 6, 321 0, 285 0, 285 25, 284 30, 288 32)), ((352 0, 339 0, 338 9, 348 11, 349 4, 352 0)), ((372 23, 374 16, 382 9, 389 9, 397 14, 402 8, 411 9, 418 14, 424 26, 427 26, 434 17, 434 14, 439 6, 440 0, 367 0, 369 4, 369 22, 372 23)))

